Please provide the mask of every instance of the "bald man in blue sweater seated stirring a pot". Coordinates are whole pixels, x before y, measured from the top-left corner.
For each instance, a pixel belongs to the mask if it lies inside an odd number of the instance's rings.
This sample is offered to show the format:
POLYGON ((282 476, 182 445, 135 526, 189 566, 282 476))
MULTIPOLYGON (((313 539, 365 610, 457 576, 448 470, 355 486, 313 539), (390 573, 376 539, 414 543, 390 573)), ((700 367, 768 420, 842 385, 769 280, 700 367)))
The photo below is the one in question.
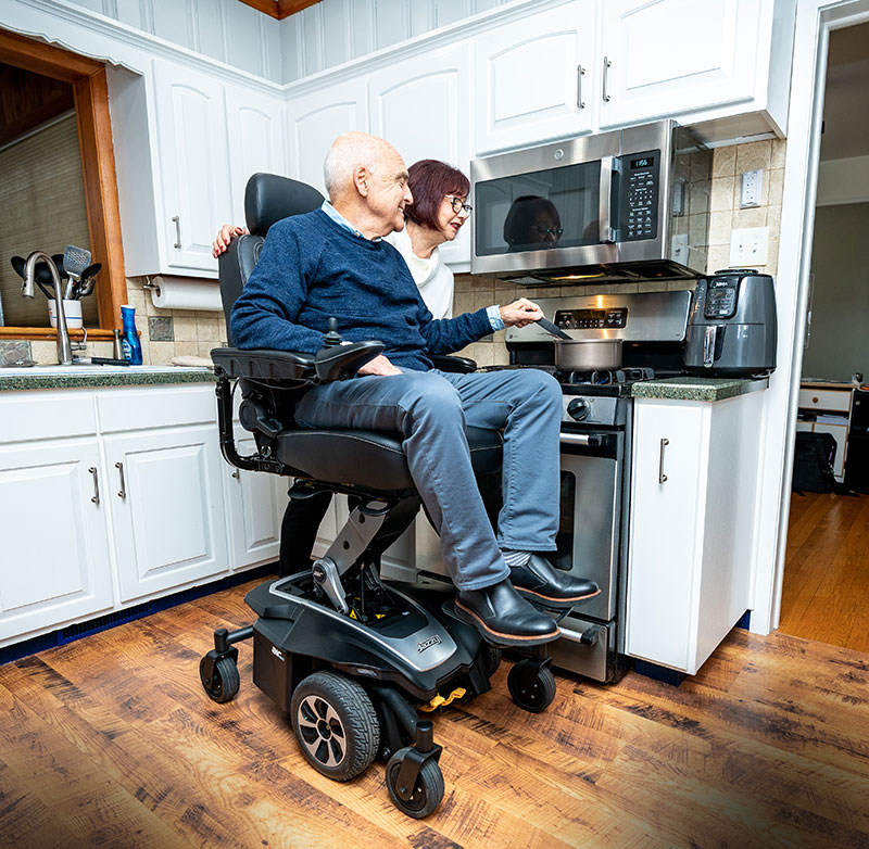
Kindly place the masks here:
POLYGON ((329 318, 351 342, 383 353, 352 380, 307 390, 303 428, 402 434, 411 477, 441 540, 457 588, 455 612, 490 642, 531 646, 558 634, 547 608, 596 594, 593 582, 556 570, 562 393, 536 369, 452 373, 429 354, 458 351, 504 326, 542 317, 526 300, 434 319, 399 252, 382 240, 404 227, 413 202, 399 153, 349 132, 325 162, 329 201, 275 224, 231 313, 240 349, 316 353, 329 318), (492 530, 470 462, 466 427, 503 429, 503 507, 492 530))

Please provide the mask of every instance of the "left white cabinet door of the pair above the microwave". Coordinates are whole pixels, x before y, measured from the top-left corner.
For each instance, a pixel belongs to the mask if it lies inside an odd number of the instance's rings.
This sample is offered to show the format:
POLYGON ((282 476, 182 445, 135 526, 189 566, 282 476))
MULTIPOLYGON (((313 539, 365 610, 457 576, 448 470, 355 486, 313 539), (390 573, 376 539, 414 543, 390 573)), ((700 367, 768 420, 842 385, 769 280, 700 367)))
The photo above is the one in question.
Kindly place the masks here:
POLYGON ((593 0, 578 0, 477 40, 478 155, 591 130, 596 15, 593 0))

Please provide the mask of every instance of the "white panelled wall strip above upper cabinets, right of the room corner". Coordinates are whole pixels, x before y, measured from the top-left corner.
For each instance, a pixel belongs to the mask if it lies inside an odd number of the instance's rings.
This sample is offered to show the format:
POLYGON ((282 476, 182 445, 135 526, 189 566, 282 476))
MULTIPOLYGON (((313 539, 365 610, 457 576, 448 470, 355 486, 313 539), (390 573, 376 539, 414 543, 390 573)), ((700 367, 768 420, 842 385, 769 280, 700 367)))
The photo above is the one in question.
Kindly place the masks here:
POLYGON ((280 22, 284 83, 488 12, 507 0, 322 0, 280 22))

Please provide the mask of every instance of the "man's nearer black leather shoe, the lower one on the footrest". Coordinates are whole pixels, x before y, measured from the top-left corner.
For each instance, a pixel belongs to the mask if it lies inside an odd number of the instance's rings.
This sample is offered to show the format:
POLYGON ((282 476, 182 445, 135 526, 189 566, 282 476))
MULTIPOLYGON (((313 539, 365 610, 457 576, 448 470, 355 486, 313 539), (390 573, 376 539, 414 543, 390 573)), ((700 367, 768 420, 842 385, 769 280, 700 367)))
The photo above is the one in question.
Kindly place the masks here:
POLYGON ((536 646, 561 633, 558 625, 529 605, 506 579, 482 590, 459 592, 455 614, 475 625, 490 643, 502 646, 536 646))

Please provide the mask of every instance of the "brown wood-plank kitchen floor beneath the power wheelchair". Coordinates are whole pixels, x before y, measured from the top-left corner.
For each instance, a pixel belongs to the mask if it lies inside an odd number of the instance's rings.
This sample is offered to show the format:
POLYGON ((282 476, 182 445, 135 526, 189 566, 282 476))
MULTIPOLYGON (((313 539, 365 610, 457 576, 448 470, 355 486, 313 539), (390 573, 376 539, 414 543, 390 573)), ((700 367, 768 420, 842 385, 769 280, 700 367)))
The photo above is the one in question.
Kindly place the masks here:
POLYGON ((251 682, 211 702, 214 628, 245 587, 0 667, 0 845, 869 847, 869 657, 736 631, 679 688, 557 675, 545 713, 491 693, 436 717, 446 795, 424 822, 382 764, 335 784, 251 682))

